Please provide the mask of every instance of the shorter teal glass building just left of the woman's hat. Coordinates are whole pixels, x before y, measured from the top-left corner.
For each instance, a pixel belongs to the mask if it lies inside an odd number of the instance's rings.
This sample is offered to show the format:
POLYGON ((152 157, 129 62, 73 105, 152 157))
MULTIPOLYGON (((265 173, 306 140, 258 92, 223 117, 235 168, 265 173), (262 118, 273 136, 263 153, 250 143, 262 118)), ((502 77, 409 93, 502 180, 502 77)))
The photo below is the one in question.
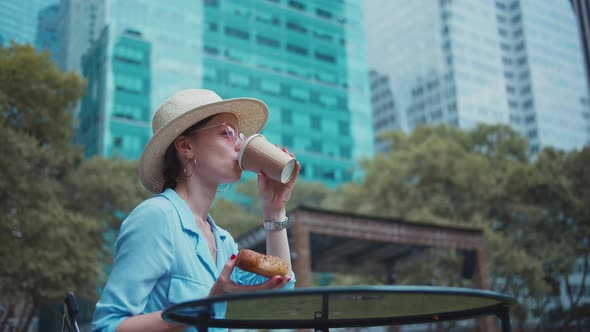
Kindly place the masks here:
POLYGON ((151 45, 133 30, 112 37, 105 27, 82 58, 88 84, 75 141, 86 157, 139 159, 151 136, 151 45))

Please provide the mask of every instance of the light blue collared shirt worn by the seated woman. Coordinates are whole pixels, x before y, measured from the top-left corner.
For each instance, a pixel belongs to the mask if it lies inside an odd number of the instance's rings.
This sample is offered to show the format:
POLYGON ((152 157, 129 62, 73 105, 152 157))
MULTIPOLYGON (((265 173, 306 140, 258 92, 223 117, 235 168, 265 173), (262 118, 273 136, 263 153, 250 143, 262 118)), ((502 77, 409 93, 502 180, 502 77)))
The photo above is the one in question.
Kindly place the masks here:
MULTIPOLYGON (((224 264, 238 252, 232 236, 211 216, 208 221, 217 244, 215 263, 190 208, 174 190, 166 189, 137 206, 121 225, 92 330, 114 332, 128 317, 206 297, 224 264)), ((242 285, 268 280, 237 267, 232 279, 242 285)), ((285 288, 294 285, 292 275, 285 288)), ((216 306, 215 314, 223 316, 225 307, 216 306)))

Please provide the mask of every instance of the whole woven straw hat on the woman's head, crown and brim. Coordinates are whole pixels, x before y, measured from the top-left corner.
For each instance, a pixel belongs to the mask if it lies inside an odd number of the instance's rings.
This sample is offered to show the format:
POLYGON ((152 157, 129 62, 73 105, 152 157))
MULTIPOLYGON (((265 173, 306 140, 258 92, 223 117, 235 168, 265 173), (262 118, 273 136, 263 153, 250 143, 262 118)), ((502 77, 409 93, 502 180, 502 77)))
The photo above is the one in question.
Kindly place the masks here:
POLYGON ((268 119, 266 105, 253 98, 223 100, 211 90, 182 90, 166 99, 152 120, 154 136, 139 159, 139 178, 143 186, 160 193, 164 186, 164 154, 183 131, 219 113, 231 113, 246 136, 259 132, 268 119))

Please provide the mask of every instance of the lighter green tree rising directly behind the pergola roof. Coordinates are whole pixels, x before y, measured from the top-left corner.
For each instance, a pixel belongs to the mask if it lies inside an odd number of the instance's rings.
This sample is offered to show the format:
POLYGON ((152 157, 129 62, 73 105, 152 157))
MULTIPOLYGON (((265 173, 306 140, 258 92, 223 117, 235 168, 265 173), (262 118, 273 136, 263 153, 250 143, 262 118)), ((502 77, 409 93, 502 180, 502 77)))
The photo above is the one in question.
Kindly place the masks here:
MULTIPOLYGON (((472 131, 418 127, 411 135, 394 132, 386 138, 389 152, 364 161, 364 181, 343 189, 340 206, 362 214, 482 228, 492 287, 519 299, 543 298, 541 261, 520 246, 521 236, 505 218, 516 214, 511 175, 530 168, 526 141, 508 127, 485 125, 472 131)), ((402 264, 398 274, 407 283, 464 286, 466 281, 458 278, 460 259, 455 253, 426 251, 423 258, 402 264)), ((527 309, 517 311, 521 319, 527 309)))

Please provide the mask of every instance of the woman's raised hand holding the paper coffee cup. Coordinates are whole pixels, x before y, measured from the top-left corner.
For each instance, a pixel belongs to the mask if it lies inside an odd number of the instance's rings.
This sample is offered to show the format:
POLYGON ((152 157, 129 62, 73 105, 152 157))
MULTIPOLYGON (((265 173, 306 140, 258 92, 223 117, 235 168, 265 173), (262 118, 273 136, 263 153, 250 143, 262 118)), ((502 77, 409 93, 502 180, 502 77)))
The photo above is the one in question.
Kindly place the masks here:
MULTIPOLYGON (((295 158, 295 155, 289 153, 286 147, 283 147, 282 150, 295 158)), ((281 214, 284 216, 285 208, 289 198, 291 198, 291 192, 295 186, 295 180, 297 180, 300 168, 301 165, 297 161, 293 170, 293 176, 287 183, 275 181, 261 172, 258 173, 258 193, 265 218, 278 220, 277 218, 282 218, 281 214)))

